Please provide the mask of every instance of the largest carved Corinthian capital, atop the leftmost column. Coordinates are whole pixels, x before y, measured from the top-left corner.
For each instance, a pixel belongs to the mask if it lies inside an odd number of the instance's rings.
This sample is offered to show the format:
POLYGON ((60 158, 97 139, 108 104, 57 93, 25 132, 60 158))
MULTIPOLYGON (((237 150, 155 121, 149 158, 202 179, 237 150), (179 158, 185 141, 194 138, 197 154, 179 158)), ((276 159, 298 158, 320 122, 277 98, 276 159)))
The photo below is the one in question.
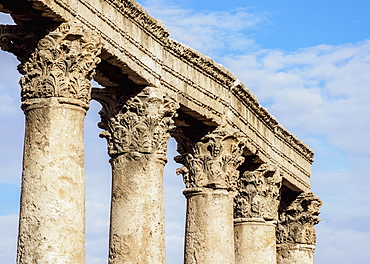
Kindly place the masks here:
POLYGON ((15 26, 2 28, 1 46, 21 60, 22 100, 64 97, 89 103, 94 69, 100 59, 99 37, 78 24, 63 23, 42 38, 15 26), (28 43, 37 39, 35 45, 28 43), (35 46, 35 47, 33 47, 35 46))

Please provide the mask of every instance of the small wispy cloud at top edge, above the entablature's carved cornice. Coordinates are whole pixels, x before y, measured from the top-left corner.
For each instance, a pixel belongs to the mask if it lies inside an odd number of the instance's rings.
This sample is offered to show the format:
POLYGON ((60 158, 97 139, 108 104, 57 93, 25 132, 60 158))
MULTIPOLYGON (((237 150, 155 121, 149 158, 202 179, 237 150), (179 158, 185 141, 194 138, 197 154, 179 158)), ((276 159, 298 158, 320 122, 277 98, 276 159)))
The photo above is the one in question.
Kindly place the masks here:
POLYGON ((251 13, 243 8, 211 12, 184 9, 166 0, 143 3, 151 16, 165 23, 171 38, 213 58, 218 58, 225 49, 256 49, 255 40, 243 32, 269 23, 266 14, 251 13))

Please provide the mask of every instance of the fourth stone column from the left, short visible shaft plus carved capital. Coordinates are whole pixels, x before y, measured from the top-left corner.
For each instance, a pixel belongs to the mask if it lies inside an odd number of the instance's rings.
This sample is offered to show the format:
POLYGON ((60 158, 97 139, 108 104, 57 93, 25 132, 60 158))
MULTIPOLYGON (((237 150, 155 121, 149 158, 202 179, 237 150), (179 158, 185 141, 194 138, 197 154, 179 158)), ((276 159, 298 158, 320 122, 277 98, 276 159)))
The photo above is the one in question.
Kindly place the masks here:
POLYGON ((262 164, 244 172, 235 197, 235 263, 276 264, 276 220, 282 177, 262 164))

